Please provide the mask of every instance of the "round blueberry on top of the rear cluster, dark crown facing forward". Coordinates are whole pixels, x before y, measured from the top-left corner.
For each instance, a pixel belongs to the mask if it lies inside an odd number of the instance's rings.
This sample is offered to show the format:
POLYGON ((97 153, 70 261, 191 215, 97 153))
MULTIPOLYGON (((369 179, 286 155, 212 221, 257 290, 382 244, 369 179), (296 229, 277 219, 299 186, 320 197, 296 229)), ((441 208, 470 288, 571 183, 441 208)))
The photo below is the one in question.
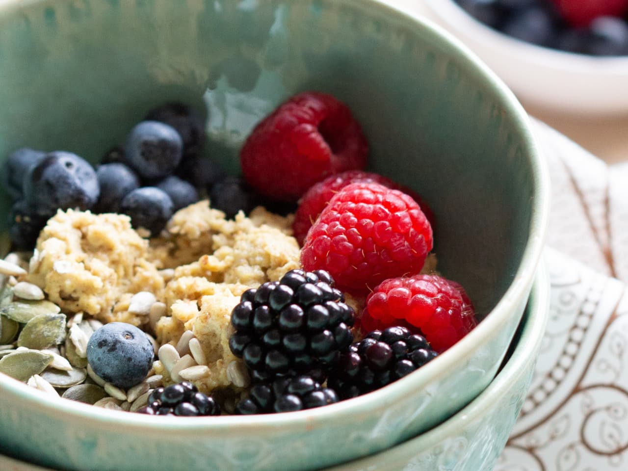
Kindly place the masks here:
POLYGON ((181 161, 183 141, 175 128, 158 121, 135 126, 124 146, 124 160, 143 178, 170 175, 181 161))

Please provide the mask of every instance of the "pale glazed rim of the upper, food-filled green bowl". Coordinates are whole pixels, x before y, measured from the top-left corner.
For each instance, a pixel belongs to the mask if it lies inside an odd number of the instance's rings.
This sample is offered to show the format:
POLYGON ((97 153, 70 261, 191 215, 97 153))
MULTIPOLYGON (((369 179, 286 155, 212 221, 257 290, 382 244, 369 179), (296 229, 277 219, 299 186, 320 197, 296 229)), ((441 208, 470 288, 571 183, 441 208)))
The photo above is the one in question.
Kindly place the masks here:
MULTIPOLYGON (((33 4, 45 0, 0 0, 0 15, 6 9, 33 4)), ((447 33, 442 28, 425 19, 417 18, 410 14, 387 5, 384 0, 360 0, 360 8, 379 9, 381 13, 391 16, 407 28, 421 28, 427 33, 438 36, 443 43, 443 51, 460 61, 465 68, 465 73, 472 74, 480 82, 484 82, 487 90, 499 100, 503 111, 511 117, 514 129, 521 136, 522 158, 529 160, 529 166, 533 176, 533 196, 531 202, 531 221, 529 237, 521 258, 521 264, 516 271, 514 279, 507 288, 506 293, 498 301, 497 305, 487 314, 479 325, 465 338, 447 350, 435 361, 425 365, 420 370, 413 372, 385 388, 373 393, 330 404, 324 408, 309 409, 305 411, 266 414, 260 416, 218 416, 212 418, 170 418, 168 416, 145 416, 143 414, 129 414, 109 409, 96 408, 87 404, 67 400, 51 400, 40 391, 16 381, 4 377, 0 379, 0 386, 11 394, 19 396, 23 401, 36 408, 45 408, 51 416, 73 416, 75 418, 89 418, 97 421, 102 428, 114 428, 127 431, 139 430, 148 433, 157 433, 168 428, 178 433, 196 433, 206 430, 208 427, 220 433, 232 431, 234 427, 240 430, 257 430, 260 426, 268 428, 283 428, 286 425, 300 421, 303 423, 325 423, 329 418, 337 416, 359 416, 369 414, 374 410, 386 408, 398 398, 407 396, 408 391, 423 388, 426 384, 435 381, 438 377, 446 376, 450 367, 465 359, 471 352, 479 348, 484 339, 489 338, 491 332, 499 330, 511 316, 514 306, 526 300, 534 281, 534 276, 543 249, 544 234, 549 214, 549 176, 546 165, 541 158, 538 146, 534 140, 529 117, 517 101, 514 94, 497 76, 468 50, 460 41, 447 33)))

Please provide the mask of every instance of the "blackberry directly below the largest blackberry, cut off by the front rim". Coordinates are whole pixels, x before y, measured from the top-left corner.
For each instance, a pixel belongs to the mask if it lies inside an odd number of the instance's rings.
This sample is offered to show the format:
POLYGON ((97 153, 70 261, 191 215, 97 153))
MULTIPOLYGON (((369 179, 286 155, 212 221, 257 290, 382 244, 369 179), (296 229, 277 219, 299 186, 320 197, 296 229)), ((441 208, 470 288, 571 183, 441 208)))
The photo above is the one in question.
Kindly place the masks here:
POLYGON ((321 387, 311 376, 280 377, 253 386, 249 397, 236 404, 236 413, 292 412, 337 402, 336 392, 328 387, 321 387))

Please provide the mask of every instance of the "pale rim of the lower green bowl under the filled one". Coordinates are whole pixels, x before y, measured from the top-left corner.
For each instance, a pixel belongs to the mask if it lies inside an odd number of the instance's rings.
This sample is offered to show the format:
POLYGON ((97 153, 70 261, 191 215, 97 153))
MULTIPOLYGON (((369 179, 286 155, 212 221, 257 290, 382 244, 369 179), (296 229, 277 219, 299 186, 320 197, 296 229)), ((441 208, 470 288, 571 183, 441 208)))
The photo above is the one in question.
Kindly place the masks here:
POLYGON ((511 393, 512 384, 521 382, 519 378, 522 374, 527 374, 531 362, 536 362, 549 318, 549 293, 548 273, 541 262, 530 293, 526 315, 520 325, 521 333, 518 338, 512 340, 511 348, 514 347, 512 355, 489 386, 465 408, 431 430, 399 445, 368 457, 325 468, 325 471, 365 470, 371 469, 371 466, 376 466, 374 469, 377 470, 379 469, 377 463, 389 462, 394 457, 399 460, 414 458, 443 443, 447 438, 461 434, 466 423, 484 417, 499 400, 497 398, 511 393))

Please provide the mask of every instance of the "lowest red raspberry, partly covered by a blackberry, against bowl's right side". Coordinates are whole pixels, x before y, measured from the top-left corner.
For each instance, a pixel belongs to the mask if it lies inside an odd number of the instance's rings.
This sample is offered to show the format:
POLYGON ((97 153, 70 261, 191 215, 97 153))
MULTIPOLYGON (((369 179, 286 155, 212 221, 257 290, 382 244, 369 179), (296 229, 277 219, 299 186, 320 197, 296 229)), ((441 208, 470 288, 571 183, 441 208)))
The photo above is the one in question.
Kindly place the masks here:
POLYGON ((403 325, 420 332, 441 353, 477 325, 474 307, 460 284, 437 275, 391 278, 366 298, 362 332, 403 325))

